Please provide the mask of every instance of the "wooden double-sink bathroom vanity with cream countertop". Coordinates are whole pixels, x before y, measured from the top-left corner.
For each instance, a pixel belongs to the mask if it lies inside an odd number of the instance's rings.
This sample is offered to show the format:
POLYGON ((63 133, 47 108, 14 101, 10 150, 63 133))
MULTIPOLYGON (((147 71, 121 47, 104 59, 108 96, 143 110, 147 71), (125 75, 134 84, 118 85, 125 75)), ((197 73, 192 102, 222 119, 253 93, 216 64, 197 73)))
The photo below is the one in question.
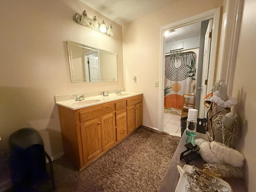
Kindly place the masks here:
MULTIPOLYGON (((56 98, 56 96, 55 96, 56 98)), ((142 125, 142 93, 57 101, 64 154, 82 170, 142 125)))

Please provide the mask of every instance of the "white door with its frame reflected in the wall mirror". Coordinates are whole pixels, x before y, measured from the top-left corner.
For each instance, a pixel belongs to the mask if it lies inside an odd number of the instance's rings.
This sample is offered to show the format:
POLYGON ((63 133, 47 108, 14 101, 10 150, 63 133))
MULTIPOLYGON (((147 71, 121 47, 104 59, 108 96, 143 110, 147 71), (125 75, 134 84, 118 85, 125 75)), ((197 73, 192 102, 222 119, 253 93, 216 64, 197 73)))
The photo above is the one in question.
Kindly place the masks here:
POLYGON ((87 82, 99 82, 100 81, 100 63, 98 52, 90 55, 84 55, 84 66, 86 69, 86 81, 87 82))

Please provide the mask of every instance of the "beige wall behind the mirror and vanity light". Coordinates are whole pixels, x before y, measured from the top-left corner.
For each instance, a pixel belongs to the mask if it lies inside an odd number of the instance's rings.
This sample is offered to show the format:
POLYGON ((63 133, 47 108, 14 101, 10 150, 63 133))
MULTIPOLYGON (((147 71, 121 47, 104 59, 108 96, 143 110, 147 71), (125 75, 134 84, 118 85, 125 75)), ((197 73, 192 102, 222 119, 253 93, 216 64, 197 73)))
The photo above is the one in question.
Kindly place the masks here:
POLYGON ((51 157, 62 140, 54 95, 122 88, 122 26, 79 0, 2 0, 0 3, 0 148, 20 128, 38 130, 51 157), (109 37, 77 24, 75 13, 112 24, 109 37), (66 40, 116 52, 118 82, 71 83, 66 40))

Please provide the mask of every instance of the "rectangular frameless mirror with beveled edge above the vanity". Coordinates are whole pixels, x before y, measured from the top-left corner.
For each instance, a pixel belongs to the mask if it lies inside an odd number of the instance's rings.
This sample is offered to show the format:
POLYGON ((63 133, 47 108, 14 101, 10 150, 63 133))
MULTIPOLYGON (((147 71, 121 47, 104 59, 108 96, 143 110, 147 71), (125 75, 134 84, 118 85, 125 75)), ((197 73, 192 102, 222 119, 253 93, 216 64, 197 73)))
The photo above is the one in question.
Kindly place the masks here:
POLYGON ((71 82, 117 81, 117 54, 67 41, 71 82))

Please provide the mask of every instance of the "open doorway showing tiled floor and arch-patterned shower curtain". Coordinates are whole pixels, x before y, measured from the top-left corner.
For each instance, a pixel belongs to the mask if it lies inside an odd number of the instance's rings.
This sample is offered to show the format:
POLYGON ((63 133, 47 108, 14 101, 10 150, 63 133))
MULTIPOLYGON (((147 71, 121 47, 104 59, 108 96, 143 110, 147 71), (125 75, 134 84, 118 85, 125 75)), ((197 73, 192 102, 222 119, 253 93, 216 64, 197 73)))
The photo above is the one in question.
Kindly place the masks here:
POLYGON ((207 84, 201 82, 208 78, 211 31, 212 19, 166 31, 163 131, 171 135, 180 136, 180 118, 188 108, 206 118, 207 84))

